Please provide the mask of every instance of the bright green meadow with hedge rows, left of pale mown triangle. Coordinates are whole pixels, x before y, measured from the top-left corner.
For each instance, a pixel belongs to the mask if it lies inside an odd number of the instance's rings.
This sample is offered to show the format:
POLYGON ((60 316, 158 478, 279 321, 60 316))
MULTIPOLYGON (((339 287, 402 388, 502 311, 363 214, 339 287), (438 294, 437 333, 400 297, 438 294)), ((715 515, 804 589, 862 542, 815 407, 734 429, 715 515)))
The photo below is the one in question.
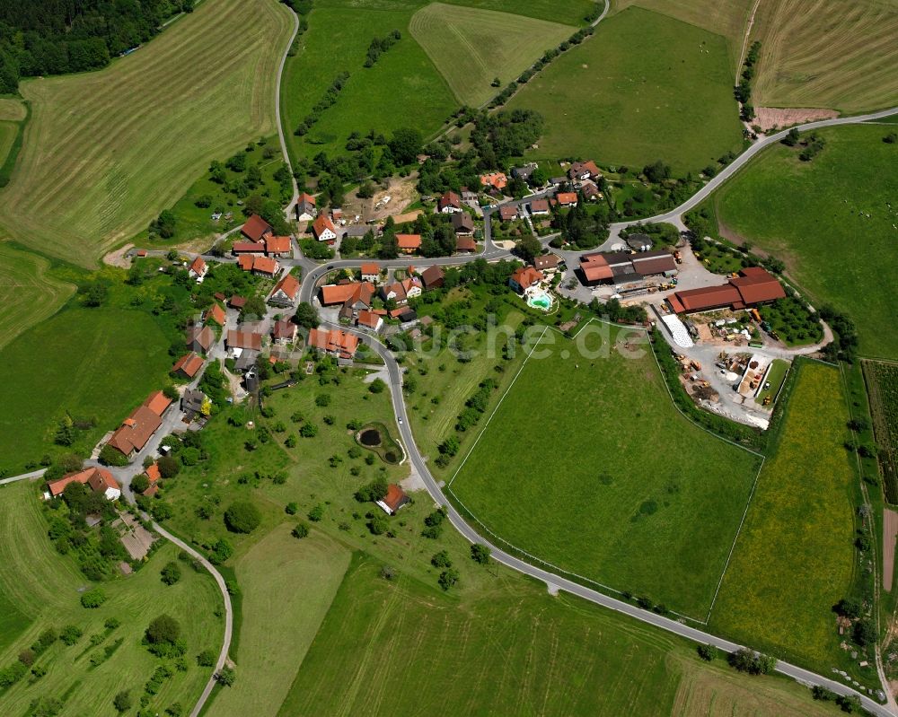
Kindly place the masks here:
POLYGON ((417 127, 427 135, 442 125, 457 103, 409 33, 409 20, 418 6, 370 9, 348 8, 339 2, 315 4, 308 15, 303 49, 288 59, 284 73, 281 106, 291 156, 342 152, 353 131, 364 134, 373 128, 389 137, 398 127, 417 127), (402 39, 373 67, 364 67, 371 40, 393 30, 401 31, 402 39), (307 136, 294 136, 295 127, 344 70, 349 80, 337 103, 321 113, 307 136))

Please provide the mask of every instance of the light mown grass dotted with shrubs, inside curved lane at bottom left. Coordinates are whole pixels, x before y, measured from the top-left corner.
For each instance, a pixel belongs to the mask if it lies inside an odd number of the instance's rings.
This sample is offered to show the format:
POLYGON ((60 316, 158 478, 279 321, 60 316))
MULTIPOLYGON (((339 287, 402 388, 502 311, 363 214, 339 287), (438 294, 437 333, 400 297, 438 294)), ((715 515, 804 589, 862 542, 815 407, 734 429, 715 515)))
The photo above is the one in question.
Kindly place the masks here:
POLYGON ((112 699, 123 689, 131 691, 136 703, 153 670, 163 662, 141 644, 150 620, 162 613, 180 622, 188 669, 172 670, 174 674, 164 681, 149 707, 163 713, 180 702, 189 711, 211 675, 211 669, 198 667, 195 655, 207 649, 217 652, 224 634, 224 618, 214 614, 221 607, 215 583, 207 573, 196 573, 182 563, 180 581, 164 585, 159 572, 178 555, 177 548, 166 544, 138 572, 103 583, 108 599, 101 608, 83 608, 81 591, 92 585, 77 570, 75 560, 59 555, 47 537, 38 493, 38 485, 27 481, 0 489, 0 603, 5 608, 0 618, 0 664, 11 664, 48 627, 59 630, 75 625, 84 635, 75 645, 57 642, 41 654, 35 664, 45 667, 47 675, 38 680, 22 678, 6 690, 0 697, 0 711, 31 714, 32 700, 56 697, 64 702, 59 713, 63 717, 111 717, 115 714, 112 699), (113 616, 121 625, 101 646, 91 647, 92 635, 103 633, 104 621, 113 616), (122 643, 110 659, 92 668, 92 656, 119 639, 122 643))

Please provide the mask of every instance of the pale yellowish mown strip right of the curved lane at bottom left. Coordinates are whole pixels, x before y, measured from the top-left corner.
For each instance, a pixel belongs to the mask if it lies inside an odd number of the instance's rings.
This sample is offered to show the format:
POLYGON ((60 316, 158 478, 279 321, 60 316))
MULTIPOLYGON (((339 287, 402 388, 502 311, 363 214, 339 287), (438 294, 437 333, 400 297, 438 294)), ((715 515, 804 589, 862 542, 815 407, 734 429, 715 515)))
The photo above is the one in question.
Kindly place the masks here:
POLYGON ((240 680, 216 695, 208 717, 275 717, 348 568, 345 547, 317 530, 297 540, 290 529, 278 526, 234 566, 243 617, 232 657, 240 680))

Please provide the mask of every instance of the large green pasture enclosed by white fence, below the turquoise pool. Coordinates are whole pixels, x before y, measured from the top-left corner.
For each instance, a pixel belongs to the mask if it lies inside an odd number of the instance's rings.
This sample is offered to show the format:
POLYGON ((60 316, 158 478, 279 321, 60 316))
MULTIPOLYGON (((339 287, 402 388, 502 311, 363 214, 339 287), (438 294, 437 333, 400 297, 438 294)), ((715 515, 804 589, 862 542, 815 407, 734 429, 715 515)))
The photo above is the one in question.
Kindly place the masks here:
POLYGON ((585 358, 547 332, 450 489, 511 545, 703 620, 759 458, 678 414, 644 337, 630 358, 620 336, 585 358))

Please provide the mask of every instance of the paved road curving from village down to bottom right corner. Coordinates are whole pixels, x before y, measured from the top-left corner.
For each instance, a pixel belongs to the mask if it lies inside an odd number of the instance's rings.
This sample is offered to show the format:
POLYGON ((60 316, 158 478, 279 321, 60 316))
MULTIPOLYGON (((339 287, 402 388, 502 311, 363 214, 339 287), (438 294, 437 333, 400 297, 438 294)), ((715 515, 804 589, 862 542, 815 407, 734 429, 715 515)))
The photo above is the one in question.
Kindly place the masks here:
MULTIPOLYGON (((560 575, 555 573, 551 573, 548 570, 543 570, 542 568, 537 567, 533 564, 525 563, 523 560, 515 557, 514 555, 509 555, 505 551, 490 543, 485 538, 482 538, 480 534, 475 529, 471 528, 466 520, 462 518, 462 515, 453 508, 453 504, 446 499, 443 490, 441 489, 440 485, 436 483, 434 477, 430 474, 430 471, 427 468, 427 462, 421 456, 421 453, 418 450, 418 446, 415 443, 415 437, 411 433, 411 428, 409 427, 409 415, 406 412, 405 402, 402 398, 402 372, 399 363, 396 363, 396 360, 393 358, 387 347, 381 344, 371 335, 366 334, 362 331, 358 331, 354 328, 347 328, 345 326, 339 326, 337 324, 325 323, 324 325, 330 326, 330 328, 342 328, 344 331, 350 331, 357 334, 357 336, 361 338, 363 343, 371 346, 371 348, 378 355, 380 355, 381 358, 383 358, 383 362, 386 364, 387 372, 389 374, 393 411, 398 422, 397 427, 399 429, 402 442, 405 444, 409 460, 411 461, 412 466, 415 468, 415 470, 418 471, 418 476, 420 476, 424 481, 424 485, 427 486, 427 493, 430 494, 430 496, 436 503, 445 506, 450 522, 452 522, 453 527, 458 530, 464 538, 469 540, 471 543, 480 543, 482 545, 488 546, 491 555, 495 560, 497 560, 497 562, 504 564, 512 568, 513 570, 518 571, 519 573, 524 573, 525 575, 530 575, 537 580, 544 581, 547 585, 557 587, 559 588, 559 590, 565 590, 571 595, 576 595, 578 598, 589 600, 596 605, 601 605, 604 608, 612 609, 615 612, 633 617, 634 619, 637 619, 640 622, 647 623, 648 625, 654 625, 662 630, 680 635, 681 637, 684 637, 688 640, 693 640, 697 643, 713 644, 720 650, 732 652, 743 647, 743 645, 731 643, 728 640, 724 640, 723 638, 718 637, 717 635, 703 632, 697 628, 690 627, 689 625, 683 625, 682 623, 672 620, 669 617, 656 615, 656 613, 654 612, 643 610, 636 607, 635 605, 631 605, 629 602, 623 602, 622 600, 611 598, 596 590, 590 590, 589 588, 585 588, 583 585, 580 585, 577 582, 569 581, 567 578, 561 577, 560 575)), ((777 662, 776 669, 783 675, 794 678, 806 685, 821 685, 841 695, 858 695, 864 707, 871 713, 879 715, 880 717, 894 717, 894 714, 889 712, 889 710, 885 706, 876 703, 866 695, 861 695, 860 693, 851 689, 849 686, 845 686, 841 682, 836 682, 835 680, 832 680, 830 678, 825 678, 822 675, 817 675, 810 670, 797 667, 796 665, 792 665, 782 660, 779 660, 777 662)))

